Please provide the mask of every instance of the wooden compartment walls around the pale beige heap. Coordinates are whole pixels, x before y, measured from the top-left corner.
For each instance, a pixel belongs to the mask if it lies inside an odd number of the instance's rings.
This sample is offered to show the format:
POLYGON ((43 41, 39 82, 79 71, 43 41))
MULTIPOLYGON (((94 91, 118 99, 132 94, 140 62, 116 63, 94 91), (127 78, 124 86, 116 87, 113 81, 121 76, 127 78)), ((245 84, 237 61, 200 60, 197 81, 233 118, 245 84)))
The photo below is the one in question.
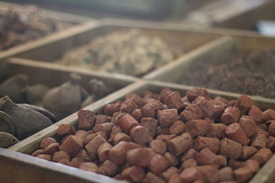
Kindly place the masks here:
MULTIPOLYGON (((173 26, 175 27, 175 25, 173 26)), ((15 56, 43 62, 53 62, 61 58, 63 53, 68 49, 79 47, 93 40, 98 36, 104 36, 114 31, 126 29, 140 29, 147 36, 157 36, 162 38, 169 47, 181 50, 182 54, 203 45, 210 40, 218 38, 220 35, 210 32, 198 32, 196 30, 173 29, 165 23, 142 23, 140 21, 122 21, 109 20, 100 23, 86 23, 80 25, 74 31, 72 29, 64 34, 60 34, 52 39, 41 39, 36 42, 36 46, 23 51, 15 56), (148 26, 149 25, 149 26, 148 26), (150 26, 151 25, 151 26, 150 26)), ((55 64, 57 65, 57 64, 55 64)))

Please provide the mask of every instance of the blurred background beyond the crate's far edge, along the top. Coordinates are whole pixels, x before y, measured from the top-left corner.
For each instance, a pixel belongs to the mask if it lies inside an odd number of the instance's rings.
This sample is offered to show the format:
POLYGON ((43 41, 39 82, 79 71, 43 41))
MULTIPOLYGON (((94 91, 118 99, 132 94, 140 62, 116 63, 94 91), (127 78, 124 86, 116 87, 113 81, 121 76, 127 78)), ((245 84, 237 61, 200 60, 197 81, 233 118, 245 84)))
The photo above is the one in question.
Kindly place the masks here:
POLYGON ((273 0, 27 0, 42 8, 94 19, 107 17, 249 29, 275 35, 273 0))

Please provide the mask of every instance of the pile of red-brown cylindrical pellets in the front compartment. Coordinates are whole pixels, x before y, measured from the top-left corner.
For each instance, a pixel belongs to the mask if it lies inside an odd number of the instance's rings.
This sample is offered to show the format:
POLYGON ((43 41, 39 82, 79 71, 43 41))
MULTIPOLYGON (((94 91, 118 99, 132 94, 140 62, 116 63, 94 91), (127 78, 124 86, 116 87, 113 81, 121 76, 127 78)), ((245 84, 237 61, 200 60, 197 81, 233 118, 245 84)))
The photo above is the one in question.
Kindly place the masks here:
POLYGON ((32 156, 129 182, 248 182, 275 150, 275 111, 241 95, 211 99, 204 88, 181 97, 126 95, 104 115, 78 111, 78 131, 60 125, 32 156))

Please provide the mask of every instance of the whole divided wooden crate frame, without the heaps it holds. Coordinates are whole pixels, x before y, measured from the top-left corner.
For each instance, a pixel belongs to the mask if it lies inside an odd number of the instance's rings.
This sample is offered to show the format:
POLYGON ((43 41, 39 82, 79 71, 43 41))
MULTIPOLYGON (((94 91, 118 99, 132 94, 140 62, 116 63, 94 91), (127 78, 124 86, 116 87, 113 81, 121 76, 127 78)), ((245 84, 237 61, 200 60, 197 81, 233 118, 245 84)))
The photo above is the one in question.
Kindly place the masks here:
MULTIPOLYGON (((172 88, 173 90, 178 90, 181 94, 185 94, 192 86, 184 86, 173 82, 179 79, 180 73, 184 69, 188 69, 188 66, 192 62, 197 62, 197 60, 203 59, 210 53, 230 51, 232 49, 242 49, 243 51, 250 52, 263 49, 263 47, 272 47, 274 42, 274 38, 259 36, 253 32, 217 28, 206 29, 175 23, 105 19, 100 22, 83 23, 82 25, 68 29, 66 32, 41 38, 30 44, 27 43, 25 44, 27 47, 25 50, 12 54, 14 57, 5 59, 5 61, 11 66, 12 74, 19 72, 26 73, 30 75, 32 83, 43 82, 51 87, 66 81, 67 76, 71 72, 76 72, 83 77, 84 87, 87 87, 85 84, 90 78, 97 78, 107 82, 113 88, 111 90, 112 93, 85 108, 100 114, 108 103, 122 99, 126 94, 133 92, 142 94, 144 90, 159 92, 162 88, 172 88), (155 69, 155 71, 144 75, 142 78, 91 71, 89 69, 52 64, 50 62, 61 56, 61 52, 66 49, 83 45, 89 41, 87 40, 87 36, 95 38, 114 30, 129 29, 132 27, 141 29, 142 32, 148 35, 161 36, 170 46, 176 45, 184 49, 184 53, 174 62, 155 69), (50 75, 50 77, 42 77, 43 75, 50 75), (58 80, 52 80, 51 78, 58 78, 58 80)), ((3 60, 1 61, 3 62, 3 60)), ((240 95, 219 90, 208 91, 212 97, 221 96, 227 99, 234 99, 240 95)), ((263 110, 275 108, 274 99, 265 99, 263 97, 252 97, 252 99, 263 110)), ((41 132, 25 138, 25 140, 13 145, 9 149, 0 149, 0 166, 8 167, 1 171, 0 182, 1 178, 2 182, 54 182, 55 179, 60 182, 118 182, 103 175, 89 173, 73 167, 67 167, 63 164, 47 162, 26 155, 39 147, 39 142, 42 138, 48 136, 56 137, 56 130, 61 123, 76 126, 77 118, 77 114, 74 113, 58 121, 58 123, 41 130, 41 132), (19 176, 14 176, 16 173, 19 176), (45 179, 45 177, 48 179, 45 179)), ((275 178, 275 167, 272 167, 274 162, 275 156, 265 164, 251 182, 272 182, 275 178)))

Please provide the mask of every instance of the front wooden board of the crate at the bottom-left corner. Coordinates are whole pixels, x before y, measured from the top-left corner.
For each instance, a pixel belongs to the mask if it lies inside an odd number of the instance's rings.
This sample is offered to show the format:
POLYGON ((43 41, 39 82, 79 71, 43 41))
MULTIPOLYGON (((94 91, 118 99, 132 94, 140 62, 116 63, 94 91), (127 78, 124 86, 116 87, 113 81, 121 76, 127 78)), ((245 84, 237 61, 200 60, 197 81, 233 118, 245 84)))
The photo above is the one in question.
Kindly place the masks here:
POLYGON ((0 182, 122 182, 104 175, 0 148, 0 182))

